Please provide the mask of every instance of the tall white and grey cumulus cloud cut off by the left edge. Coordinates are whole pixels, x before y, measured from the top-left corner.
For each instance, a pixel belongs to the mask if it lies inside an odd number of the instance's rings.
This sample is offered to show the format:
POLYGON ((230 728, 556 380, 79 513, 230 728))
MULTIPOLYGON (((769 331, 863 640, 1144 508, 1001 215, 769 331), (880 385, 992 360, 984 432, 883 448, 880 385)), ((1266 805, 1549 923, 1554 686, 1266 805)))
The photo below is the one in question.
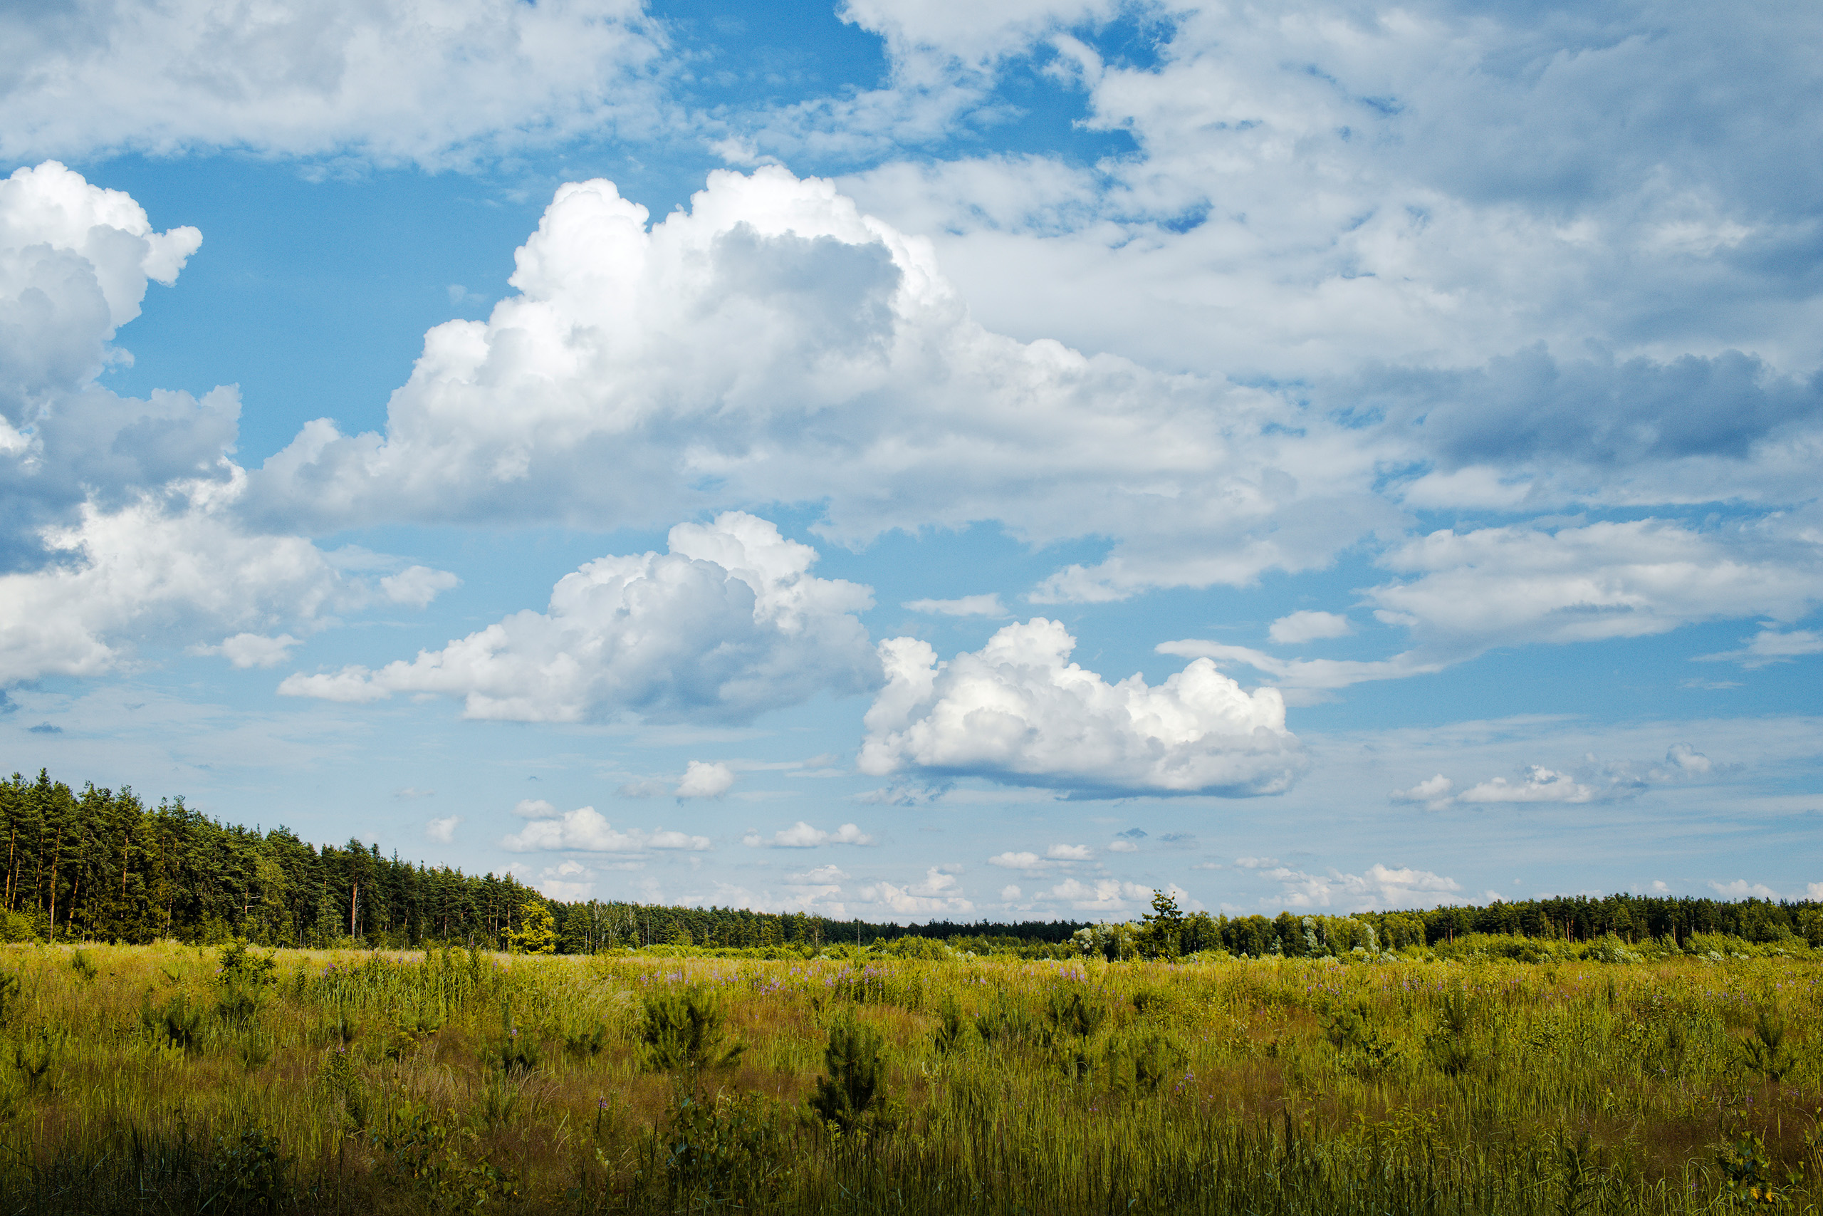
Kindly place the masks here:
POLYGON ((0 684, 98 675, 148 645, 266 664, 337 613, 452 583, 250 529, 232 388, 135 399, 95 383, 126 357, 113 339, 148 284, 199 244, 57 162, 0 180, 0 684))

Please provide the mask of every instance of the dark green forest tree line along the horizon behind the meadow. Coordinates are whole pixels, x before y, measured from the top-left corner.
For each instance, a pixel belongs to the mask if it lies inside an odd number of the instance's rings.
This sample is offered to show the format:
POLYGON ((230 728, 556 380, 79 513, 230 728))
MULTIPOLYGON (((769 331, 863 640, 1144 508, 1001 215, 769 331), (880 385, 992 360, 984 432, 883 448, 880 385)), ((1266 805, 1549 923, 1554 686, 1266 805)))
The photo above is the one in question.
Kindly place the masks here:
MULTIPOLYGON (((565 953, 640 946, 709 950, 819 950, 904 937, 955 948, 1072 953, 1117 941, 1117 926, 1085 921, 932 921, 873 924, 804 912, 676 908, 629 901, 554 901, 509 875, 469 875, 381 855, 377 846, 315 846, 288 828, 222 824, 164 799, 146 806, 131 789, 80 791, 15 773, 0 782, 0 937, 146 943, 173 937, 266 946, 414 948, 461 943, 505 950, 529 910, 549 912, 565 953)), ((1176 917, 1176 913, 1174 913, 1176 917)), ((1280 913, 1276 919, 1192 913, 1172 921, 1176 952, 1232 955, 1347 953, 1362 946, 1437 946, 1468 933, 1566 941, 1624 941, 1728 933, 1748 941, 1801 937, 1823 946, 1823 904, 1668 895, 1566 897, 1369 912, 1349 917, 1280 913)))

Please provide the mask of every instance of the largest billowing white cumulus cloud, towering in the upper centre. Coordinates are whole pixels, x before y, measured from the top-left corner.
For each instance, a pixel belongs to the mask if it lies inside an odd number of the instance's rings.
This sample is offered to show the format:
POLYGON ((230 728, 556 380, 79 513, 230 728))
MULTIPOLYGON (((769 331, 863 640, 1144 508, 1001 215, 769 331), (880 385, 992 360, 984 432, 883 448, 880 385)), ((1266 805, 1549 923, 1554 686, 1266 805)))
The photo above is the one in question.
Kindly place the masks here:
POLYGON ((647 221, 611 182, 560 188, 520 294, 427 335, 385 434, 304 427, 263 467, 263 509, 613 527, 808 501, 844 543, 1001 520, 1023 540, 1123 536, 1145 563, 1154 536, 1161 562, 1192 545, 1179 572, 1203 583, 1322 565, 1398 518, 1358 436, 1262 390, 988 332, 926 241, 831 182, 716 171, 647 221), (1282 472, 1294 425, 1329 436, 1322 474, 1282 472))

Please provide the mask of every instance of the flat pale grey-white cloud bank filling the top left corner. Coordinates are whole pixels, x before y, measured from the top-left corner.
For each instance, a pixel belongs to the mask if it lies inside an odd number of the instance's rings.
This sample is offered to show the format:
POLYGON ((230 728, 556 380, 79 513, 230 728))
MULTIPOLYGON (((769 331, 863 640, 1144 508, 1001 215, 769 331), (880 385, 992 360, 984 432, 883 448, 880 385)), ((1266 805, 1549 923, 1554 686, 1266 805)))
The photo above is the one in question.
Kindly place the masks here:
POLYGON ((0 155, 250 149, 459 164, 651 126, 664 40, 629 0, 228 0, 0 13, 0 155))

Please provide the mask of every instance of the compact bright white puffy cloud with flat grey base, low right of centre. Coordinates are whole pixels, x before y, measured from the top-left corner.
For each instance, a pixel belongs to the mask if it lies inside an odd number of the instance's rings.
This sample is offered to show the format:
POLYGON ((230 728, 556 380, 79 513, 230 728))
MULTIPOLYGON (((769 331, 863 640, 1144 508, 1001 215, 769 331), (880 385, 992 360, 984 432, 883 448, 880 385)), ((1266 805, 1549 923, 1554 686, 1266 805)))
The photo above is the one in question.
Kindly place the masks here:
POLYGON ((1274 689, 1243 693, 1198 660, 1147 687, 1068 662, 1057 622, 1006 625, 939 664, 915 638, 881 644, 888 684, 868 711, 862 773, 981 775, 1127 793, 1280 793, 1302 757, 1274 689))

